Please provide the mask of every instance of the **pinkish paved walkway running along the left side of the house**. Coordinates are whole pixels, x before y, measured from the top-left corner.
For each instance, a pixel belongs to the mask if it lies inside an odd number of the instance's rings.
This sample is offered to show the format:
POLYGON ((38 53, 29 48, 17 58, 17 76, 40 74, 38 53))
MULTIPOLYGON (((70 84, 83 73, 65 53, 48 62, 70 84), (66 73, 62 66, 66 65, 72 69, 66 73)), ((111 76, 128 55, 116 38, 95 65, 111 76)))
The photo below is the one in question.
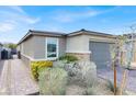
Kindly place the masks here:
POLYGON ((30 72, 21 59, 5 60, 0 77, 0 94, 25 95, 38 92, 37 83, 30 72))

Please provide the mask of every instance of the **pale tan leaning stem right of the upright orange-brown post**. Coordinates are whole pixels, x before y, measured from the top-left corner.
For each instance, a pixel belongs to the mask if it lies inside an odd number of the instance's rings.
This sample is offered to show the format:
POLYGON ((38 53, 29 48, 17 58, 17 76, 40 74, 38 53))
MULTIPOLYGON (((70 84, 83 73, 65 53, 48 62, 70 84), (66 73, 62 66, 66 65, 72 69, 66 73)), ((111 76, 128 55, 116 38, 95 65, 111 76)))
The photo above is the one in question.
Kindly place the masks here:
POLYGON ((122 83, 121 83, 120 95, 123 94, 124 88, 125 88, 125 86, 126 86, 126 77, 127 77, 127 73, 128 73, 128 69, 125 69, 125 70, 123 71, 123 80, 122 80, 122 83))

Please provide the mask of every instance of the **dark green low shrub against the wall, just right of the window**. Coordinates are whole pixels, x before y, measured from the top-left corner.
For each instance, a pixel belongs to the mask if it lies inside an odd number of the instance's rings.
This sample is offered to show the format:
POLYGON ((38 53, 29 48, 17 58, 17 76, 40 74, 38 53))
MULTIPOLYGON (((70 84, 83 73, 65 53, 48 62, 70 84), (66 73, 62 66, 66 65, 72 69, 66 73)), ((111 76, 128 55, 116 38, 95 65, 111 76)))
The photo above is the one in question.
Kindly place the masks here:
POLYGON ((61 57, 59 57, 59 60, 67 60, 67 63, 71 63, 71 61, 77 61, 78 58, 73 55, 64 55, 61 57))

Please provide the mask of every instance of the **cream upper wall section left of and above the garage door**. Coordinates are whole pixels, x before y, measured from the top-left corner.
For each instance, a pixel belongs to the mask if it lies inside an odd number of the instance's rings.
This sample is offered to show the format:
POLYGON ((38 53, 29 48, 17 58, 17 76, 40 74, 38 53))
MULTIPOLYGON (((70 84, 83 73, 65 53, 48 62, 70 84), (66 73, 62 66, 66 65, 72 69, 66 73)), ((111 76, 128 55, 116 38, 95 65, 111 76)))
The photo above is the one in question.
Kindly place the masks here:
POLYGON ((78 35, 67 38, 67 53, 89 53, 89 41, 114 43, 114 38, 94 35, 78 35))

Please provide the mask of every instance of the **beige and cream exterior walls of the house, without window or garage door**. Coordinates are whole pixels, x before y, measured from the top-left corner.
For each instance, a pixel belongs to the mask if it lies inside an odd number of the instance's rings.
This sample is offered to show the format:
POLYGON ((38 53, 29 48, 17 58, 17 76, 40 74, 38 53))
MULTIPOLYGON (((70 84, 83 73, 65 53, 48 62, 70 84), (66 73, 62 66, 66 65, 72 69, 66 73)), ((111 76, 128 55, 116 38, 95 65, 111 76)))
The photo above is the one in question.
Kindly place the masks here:
MULTIPOLYGON (((50 36, 31 36, 21 43, 18 47, 23 55, 31 57, 32 59, 46 60, 46 37, 50 36)), ((65 53, 73 54, 79 59, 90 59, 91 50, 89 49, 89 42, 113 42, 113 38, 94 35, 75 35, 59 38, 59 56, 65 53)), ((58 56, 58 57, 59 57, 58 56)), ((26 60, 26 59, 25 59, 26 60)))

